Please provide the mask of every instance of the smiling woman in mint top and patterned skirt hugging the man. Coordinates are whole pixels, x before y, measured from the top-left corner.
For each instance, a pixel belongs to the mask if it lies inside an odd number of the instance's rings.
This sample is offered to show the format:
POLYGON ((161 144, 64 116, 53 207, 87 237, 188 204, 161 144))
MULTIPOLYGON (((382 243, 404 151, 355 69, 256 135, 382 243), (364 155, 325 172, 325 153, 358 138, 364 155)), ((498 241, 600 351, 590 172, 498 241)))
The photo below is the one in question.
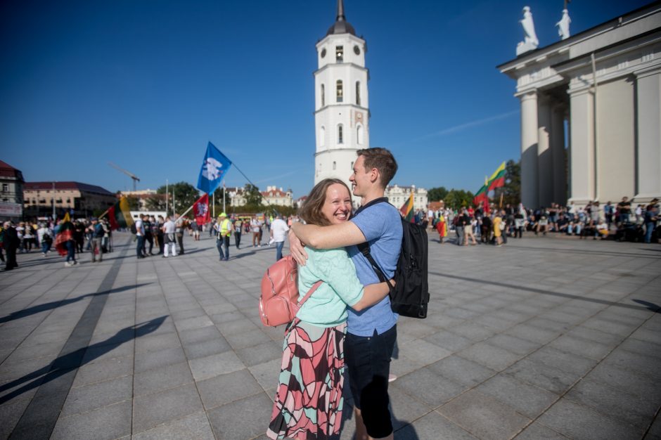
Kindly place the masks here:
MULTIPOLYGON (((324 179, 312 188, 299 215, 317 226, 342 224, 349 220, 351 206, 347 185, 324 179)), ((322 283, 285 334, 267 431, 271 439, 326 438, 340 432, 347 306, 360 311, 388 293, 386 283, 363 287, 343 247, 306 250, 309 259, 298 268, 298 291, 308 292, 319 280, 322 283)))

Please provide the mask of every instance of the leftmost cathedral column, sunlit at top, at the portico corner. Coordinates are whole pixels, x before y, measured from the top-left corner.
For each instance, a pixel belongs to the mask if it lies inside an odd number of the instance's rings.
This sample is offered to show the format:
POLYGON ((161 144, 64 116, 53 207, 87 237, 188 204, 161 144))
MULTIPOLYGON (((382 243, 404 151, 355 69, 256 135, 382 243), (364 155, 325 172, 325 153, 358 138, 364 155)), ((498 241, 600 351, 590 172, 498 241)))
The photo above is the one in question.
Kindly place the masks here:
POLYGON ((521 100, 521 202, 539 206, 537 191, 537 92, 523 93, 521 100))

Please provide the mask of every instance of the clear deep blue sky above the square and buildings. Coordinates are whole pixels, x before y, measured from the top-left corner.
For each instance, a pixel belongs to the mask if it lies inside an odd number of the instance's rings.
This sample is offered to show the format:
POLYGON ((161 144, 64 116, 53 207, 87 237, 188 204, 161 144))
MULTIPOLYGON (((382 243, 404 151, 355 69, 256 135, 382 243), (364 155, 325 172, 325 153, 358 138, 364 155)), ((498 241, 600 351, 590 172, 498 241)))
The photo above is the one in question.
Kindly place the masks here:
MULTIPOLYGON (((575 0, 572 34, 650 1, 575 0)), ((562 0, 345 0, 368 44, 371 146, 393 183, 477 190, 520 151, 515 58, 522 7, 540 46, 562 0)), ((0 3, 0 159, 27 181, 115 190, 197 183, 212 141, 260 188, 314 175, 316 51, 335 0, 0 3)), ((246 182, 236 169, 228 186, 246 182)))

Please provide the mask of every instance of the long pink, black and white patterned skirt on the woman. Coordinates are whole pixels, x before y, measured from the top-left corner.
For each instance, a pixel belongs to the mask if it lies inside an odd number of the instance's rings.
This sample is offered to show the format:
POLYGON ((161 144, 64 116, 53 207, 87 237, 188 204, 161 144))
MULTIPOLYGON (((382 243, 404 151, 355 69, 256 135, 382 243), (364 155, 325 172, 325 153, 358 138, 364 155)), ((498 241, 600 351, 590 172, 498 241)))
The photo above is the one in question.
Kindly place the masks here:
POLYGON ((347 324, 299 322, 285 336, 269 439, 328 439, 340 433, 347 324))

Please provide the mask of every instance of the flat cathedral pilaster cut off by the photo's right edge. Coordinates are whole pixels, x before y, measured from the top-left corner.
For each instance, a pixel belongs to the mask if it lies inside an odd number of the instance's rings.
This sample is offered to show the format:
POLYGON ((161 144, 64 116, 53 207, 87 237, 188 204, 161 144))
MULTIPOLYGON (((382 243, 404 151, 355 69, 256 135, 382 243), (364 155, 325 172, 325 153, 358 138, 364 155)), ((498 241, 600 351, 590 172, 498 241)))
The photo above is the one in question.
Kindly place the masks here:
POLYGON ((636 200, 661 196, 661 70, 636 72, 636 200))

